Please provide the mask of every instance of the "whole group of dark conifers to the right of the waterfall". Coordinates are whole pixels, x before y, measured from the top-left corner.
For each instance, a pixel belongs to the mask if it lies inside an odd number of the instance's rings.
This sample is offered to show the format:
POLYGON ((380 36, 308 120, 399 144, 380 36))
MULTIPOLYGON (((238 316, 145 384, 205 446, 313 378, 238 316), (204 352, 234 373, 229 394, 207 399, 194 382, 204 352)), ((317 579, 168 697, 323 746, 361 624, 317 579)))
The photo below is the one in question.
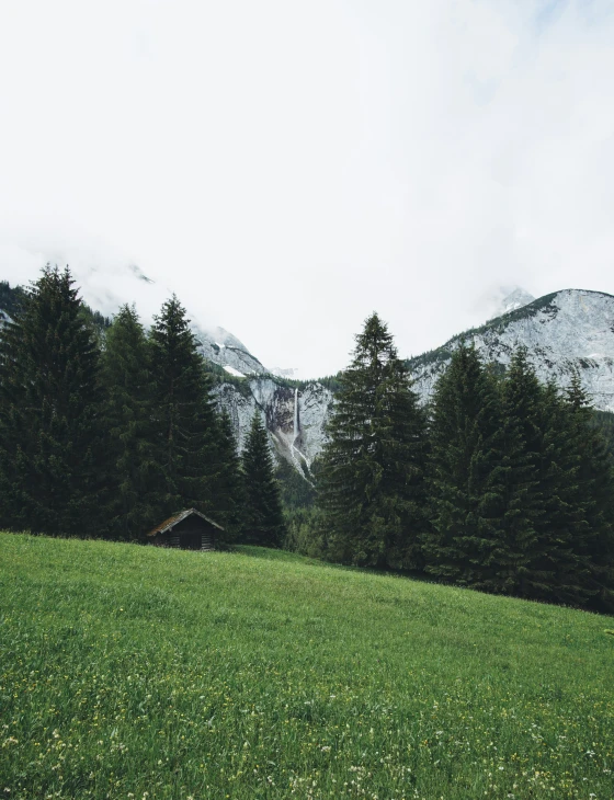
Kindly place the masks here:
POLYGON ((377 315, 356 336, 288 545, 482 591, 614 609, 613 462, 578 375, 543 385, 462 344, 418 402, 377 315))

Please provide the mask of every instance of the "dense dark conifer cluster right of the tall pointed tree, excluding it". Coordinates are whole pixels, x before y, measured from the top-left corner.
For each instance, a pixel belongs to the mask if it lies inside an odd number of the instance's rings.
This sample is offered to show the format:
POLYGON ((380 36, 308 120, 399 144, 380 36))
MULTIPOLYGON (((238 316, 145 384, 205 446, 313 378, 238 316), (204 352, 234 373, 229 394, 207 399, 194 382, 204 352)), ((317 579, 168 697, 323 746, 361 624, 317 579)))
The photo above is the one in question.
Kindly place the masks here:
POLYGON ((613 607, 612 461, 578 376, 561 397, 525 351, 501 379, 462 345, 437 384, 430 442, 428 572, 613 607))

